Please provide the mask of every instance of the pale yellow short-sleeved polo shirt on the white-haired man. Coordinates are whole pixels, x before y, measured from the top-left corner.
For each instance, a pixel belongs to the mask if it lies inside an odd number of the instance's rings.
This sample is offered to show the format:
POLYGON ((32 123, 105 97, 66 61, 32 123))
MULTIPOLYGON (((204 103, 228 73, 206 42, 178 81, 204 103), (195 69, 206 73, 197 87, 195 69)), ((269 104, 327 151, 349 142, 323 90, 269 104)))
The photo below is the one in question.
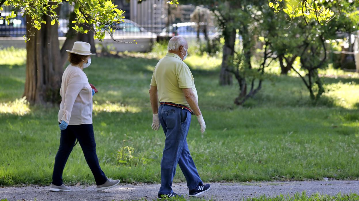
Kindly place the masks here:
POLYGON ((192 88, 198 102, 195 79, 190 68, 174 53, 167 53, 158 61, 153 71, 151 85, 157 87, 158 101, 190 105, 182 89, 192 88))

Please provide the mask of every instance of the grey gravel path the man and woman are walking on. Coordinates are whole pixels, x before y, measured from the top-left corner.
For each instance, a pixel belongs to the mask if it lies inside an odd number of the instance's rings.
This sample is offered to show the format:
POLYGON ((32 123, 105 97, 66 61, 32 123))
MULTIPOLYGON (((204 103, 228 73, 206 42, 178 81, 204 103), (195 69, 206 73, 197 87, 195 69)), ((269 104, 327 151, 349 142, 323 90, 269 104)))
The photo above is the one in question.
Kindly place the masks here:
MULTIPOLYGON (((95 186, 72 186, 70 192, 51 192, 50 187, 5 187, 0 188, 0 199, 10 200, 154 200, 159 184, 120 184, 115 188, 97 192, 95 186)), ((176 193, 188 194, 185 183, 173 184, 176 193)), ((335 195, 339 192, 359 193, 359 181, 304 181, 304 182, 243 182, 243 183, 212 183, 211 190, 204 193, 204 198, 213 200, 242 200, 260 195, 274 196, 307 191, 307 195, 322 193, 335 195)))

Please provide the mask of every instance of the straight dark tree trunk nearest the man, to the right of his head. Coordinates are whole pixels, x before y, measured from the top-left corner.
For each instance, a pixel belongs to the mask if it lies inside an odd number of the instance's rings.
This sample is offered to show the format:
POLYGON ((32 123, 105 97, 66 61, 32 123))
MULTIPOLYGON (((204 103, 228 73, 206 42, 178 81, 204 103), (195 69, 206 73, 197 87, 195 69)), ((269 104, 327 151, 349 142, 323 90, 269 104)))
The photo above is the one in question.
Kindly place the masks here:
POLYGON ((232 64, 235 41, 236 41, 236 29, 230 28, 230 30, 228 30, 228 28, 225 28, 222 68, 219 75, 220 85, 232 85, 232 74, 228 72, 227 69, 232 64))

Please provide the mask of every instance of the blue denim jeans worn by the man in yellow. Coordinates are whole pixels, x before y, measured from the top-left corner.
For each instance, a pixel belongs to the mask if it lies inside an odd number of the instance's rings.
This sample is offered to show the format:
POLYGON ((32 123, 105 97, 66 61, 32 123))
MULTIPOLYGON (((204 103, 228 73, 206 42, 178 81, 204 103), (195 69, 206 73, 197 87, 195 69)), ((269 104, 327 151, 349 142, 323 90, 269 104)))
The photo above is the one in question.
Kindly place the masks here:
POLYGON ((191 113, 182 108, 160 106, 158 117, 166 136, 161 161, 161 188, 158 193, 173 193, 171 186, 177 164, 186 177, 188 189, 195 189, 202 180, 186 140, 191 124, 191 113))

